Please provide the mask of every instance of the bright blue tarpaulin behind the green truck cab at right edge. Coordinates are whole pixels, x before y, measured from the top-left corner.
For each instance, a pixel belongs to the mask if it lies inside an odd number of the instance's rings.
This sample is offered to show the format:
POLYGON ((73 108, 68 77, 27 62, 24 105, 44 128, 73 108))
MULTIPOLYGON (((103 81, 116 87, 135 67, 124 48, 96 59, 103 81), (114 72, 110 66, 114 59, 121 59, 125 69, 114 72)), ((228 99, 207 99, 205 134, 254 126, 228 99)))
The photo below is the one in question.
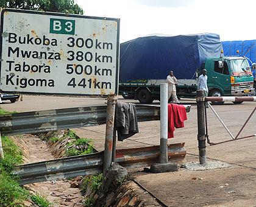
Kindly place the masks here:
MULTIPOLYGON (((225 56, 245 56, 249 58, 252 63, 256 63, 256 40, 223 41, 222 44, 225 56), (239 54, 236 53, 237 50, 239 50, 239 54)), ((250 61, 249 63, 251 65, 250 61)))

